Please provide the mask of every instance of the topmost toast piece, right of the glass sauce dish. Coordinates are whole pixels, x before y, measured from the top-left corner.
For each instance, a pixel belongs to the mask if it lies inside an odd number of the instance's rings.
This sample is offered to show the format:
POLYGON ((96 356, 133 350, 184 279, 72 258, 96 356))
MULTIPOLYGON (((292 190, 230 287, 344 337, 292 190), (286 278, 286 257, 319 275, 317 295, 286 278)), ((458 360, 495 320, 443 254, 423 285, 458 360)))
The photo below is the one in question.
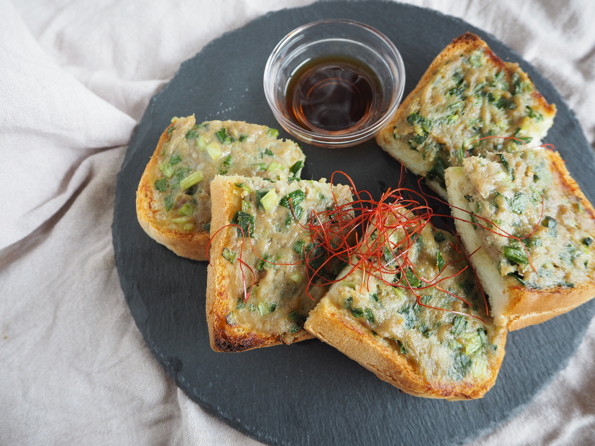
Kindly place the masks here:
POLYGON ((436 56, 376 142, 446 199, 444 169, 461 166, 466 156, 523 147, 478 139, 516 137, 538 146, 555 114, 518 64, 465 33, 436 56))

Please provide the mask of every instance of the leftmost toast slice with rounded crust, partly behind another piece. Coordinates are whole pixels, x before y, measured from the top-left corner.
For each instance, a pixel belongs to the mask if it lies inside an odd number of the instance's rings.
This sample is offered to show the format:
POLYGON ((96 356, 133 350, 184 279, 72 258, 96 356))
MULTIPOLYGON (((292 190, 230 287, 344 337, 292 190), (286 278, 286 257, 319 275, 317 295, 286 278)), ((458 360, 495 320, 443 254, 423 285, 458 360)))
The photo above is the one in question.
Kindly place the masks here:
POLYGON ((136 192, 143 230, 177 255, 206 260, 215 175, 299 177, 305 156, 278 131, 242 121, 173 118, 159 138, 136 192))

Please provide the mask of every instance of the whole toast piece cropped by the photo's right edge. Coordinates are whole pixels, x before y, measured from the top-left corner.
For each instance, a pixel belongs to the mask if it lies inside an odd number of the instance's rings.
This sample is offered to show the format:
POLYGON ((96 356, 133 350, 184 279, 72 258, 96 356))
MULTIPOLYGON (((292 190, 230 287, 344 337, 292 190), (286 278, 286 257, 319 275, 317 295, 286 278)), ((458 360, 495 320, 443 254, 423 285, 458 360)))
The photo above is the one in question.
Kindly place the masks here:
POLYGON ((497 323, 533 325, 595 295, 595 212, 558 152, 473 156, 446 186, 467 252, 481 247, 471 262, 497 323))

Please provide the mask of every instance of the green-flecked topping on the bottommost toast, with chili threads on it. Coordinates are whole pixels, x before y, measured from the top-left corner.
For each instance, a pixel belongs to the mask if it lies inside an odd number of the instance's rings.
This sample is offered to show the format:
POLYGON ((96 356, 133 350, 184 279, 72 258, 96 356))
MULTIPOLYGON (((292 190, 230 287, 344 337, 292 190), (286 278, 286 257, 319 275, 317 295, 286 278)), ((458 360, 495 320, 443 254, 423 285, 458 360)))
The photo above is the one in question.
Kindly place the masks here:
POLYGON ((373 208, 367 239, 321 305, 332 305, 375 342, 406 357, 432 388, 493 382, 506 331, 488 315, 461 244, 432 229, 425 219, 430 209, 415 215, 399 194, 389 197, 395 202, 373 208))

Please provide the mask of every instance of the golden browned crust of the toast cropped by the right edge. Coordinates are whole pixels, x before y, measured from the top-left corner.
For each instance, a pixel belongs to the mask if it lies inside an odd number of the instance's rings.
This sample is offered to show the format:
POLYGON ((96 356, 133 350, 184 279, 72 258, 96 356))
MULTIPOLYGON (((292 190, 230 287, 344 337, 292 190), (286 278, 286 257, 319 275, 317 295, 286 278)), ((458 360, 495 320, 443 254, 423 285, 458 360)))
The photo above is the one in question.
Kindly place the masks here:
MULTIPOLYGON (((590 218, 595 221, 595 209, 593 209, 593 206, 589 200, 587 200, 587 197, 585 197, 583 191, 581 191, 574 178, 570 176, 564 161, 560 157, 560 154, 550 150, 544 150, 543 153, 552 164, 553 174, 558 177, 553 181, 555 181, 557 184, 560 184, 561 187, 565 187, 571 191, 572 194, 578 197, 578 199, 581 201, 581 204, 585 208, 585 212, 587 212, 590 215, 590 218)), ((455 187, 458 187, 458 181, 464 181, 462 172, 461 177, 456 178, 455 171, 451 169, 452 168, 447 169, 449 181, 447 181, 446 184, 449 187, 449 191, 455 187), (453 175, 453 177, 450 178, 450 175, 453 175), (450 186, 451 184, 452 188, 450 186)), ((449 197, 449 201, 450 200, 452 200, 452 196, 449 197)), ((450 202, 452 203, 453 201, 450 202)), ((453 216, 458 216, 458 214, 461 213, 461 211, 457 211, 453 208, 451 209, 453 216)), ((455 221, 455 224, 457 227, 465 224, 470 225, 468 222, 461 221, 455 221)), ((459 228, 457 229, 459 233, 464 233, 464 231, 459 230, 459 228)), ((472 241, 467 240, 466 237, 461 237, 461 240, 463 241, 467 252, 472 252, 477 248, 477 246, 475 246, 472 241)), ((479 243, 477 243, 477 245, 481 246, 479 243)), ((485 252, 485 250, 481 250, 481 252, 477 252, 471 257, 471 261, 475 263, 477 261, 481 261, 480 259, 486 256, 487 252, 485 252), (474 259, 475 256, 477 256, 477 259, 474 259)), ((485 259, 483 260, 485 262, 485 259)), ((493 263, 491 259, 489 261, 493 263)), ((480 274, 479 270, 478 276, 480 279, 482 279, 482 275, 480 274)), ((510 279, 508 281, 503 280, 502 283, 514 283, 514 279, 510 279)), ((524 328, 525 326, 536 325, 537 323, 545 322, 555 316, 569 312, 586 301, 593 299, 595 296, 595 283, 592 281, 585 281, 581 284, 575 284, 574 288, 558 287, 544 290, 527 290, 527 288, 515 284, 508 286, 505 285, 504 291, 505 293, 508 293, 509 304, 506 308, 506 312, 503 313, 502 318, 497 319, 499 321, 502 320, 503 324, 509 331, 514 331, 518 330, 519 328, 524 328)))

